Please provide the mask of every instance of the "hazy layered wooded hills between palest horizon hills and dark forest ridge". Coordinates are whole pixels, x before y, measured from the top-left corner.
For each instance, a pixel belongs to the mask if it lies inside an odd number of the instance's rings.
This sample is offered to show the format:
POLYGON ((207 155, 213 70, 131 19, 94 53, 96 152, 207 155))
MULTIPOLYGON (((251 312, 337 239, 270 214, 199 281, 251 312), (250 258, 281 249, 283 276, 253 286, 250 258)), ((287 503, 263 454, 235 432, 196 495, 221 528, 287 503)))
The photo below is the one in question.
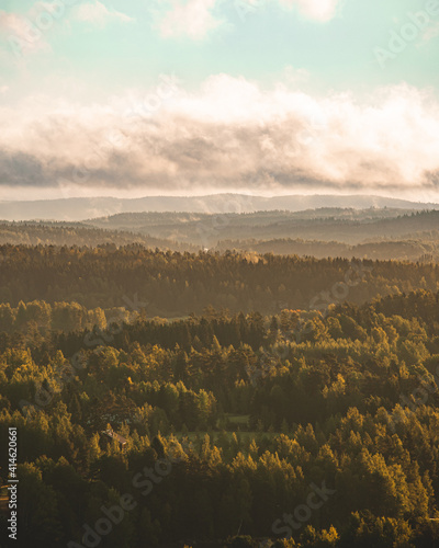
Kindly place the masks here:
POLYGON ((0 244, 238 250, 316 258, 439 259, 439 212, 320 208, 252 214, 128 213, 83 222, 0 224, 0 244))

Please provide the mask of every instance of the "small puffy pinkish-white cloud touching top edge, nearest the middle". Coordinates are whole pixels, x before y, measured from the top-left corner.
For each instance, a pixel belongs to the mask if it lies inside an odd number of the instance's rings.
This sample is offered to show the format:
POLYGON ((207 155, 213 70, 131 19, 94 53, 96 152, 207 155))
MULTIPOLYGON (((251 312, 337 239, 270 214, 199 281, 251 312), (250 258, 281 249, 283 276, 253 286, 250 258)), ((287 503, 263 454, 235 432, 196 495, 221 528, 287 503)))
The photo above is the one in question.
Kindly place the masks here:
POLYGON ((202 39, 223 24, 214 13, 216 4, 217 0, 172 0, 165 12, 155 12, 156 27, 166 38, 202 39))

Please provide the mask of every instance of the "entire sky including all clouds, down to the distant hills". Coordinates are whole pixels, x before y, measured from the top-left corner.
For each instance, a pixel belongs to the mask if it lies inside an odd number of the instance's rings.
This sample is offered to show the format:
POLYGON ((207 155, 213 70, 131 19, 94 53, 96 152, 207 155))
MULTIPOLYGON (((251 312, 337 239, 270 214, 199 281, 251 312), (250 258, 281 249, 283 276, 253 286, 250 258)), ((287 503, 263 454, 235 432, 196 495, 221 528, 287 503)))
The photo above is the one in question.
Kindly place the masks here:
POLYGON ((1 0, 0 199, 439 201, 439 0, 1 0))

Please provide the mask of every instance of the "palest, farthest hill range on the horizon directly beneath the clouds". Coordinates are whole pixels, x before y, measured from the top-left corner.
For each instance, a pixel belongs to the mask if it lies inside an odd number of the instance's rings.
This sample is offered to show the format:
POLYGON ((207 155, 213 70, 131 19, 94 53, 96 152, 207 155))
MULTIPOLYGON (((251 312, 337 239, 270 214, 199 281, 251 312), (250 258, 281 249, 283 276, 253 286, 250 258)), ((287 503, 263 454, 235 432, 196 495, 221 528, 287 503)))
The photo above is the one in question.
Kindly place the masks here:
POLYGON ((368 195, 286 195, 263 197, 244 194, 215 194, 206 196, 148 196, 143 198, 80 197, 32 202, 0 202, 0 219, 78 221, 121 213, 190 212, 239 214, 277 209, 301 212, 322 207, 356 209, 387 207, 419 210, 436 209, 439 208, 439 205, 368 195))

